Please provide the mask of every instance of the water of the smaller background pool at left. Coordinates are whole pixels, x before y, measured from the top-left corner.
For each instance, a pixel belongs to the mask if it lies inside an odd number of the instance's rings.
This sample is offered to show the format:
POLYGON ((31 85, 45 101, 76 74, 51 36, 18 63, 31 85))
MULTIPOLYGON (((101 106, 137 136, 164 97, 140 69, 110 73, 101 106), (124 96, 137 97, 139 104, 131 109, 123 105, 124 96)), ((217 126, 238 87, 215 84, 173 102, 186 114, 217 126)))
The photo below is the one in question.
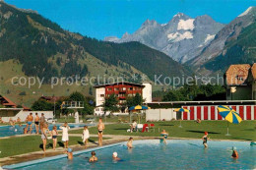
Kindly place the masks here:
MULTIPOLYGON (((54 124, 57 129, 59 130, 59 127, 63 124, 54 124)), ((53 124, 49 124, 49 130, 52 130, 53 124)), ((81 128, 84 127, 86 124, 69 124, 69 127, 72 128, 81 128)), ((90 125, 87 125, 90 126, 90 125)), ((0 127, 0 137, 10 137, 10 136, 16 136, 16 135, 22 135, 24 134, 24 128, 26 125, 19 126, 15 125, 15 127, 12 126, 2 126, 0 127)), ((35 126, 32 125, 32 134, 35 134, 35 126)))

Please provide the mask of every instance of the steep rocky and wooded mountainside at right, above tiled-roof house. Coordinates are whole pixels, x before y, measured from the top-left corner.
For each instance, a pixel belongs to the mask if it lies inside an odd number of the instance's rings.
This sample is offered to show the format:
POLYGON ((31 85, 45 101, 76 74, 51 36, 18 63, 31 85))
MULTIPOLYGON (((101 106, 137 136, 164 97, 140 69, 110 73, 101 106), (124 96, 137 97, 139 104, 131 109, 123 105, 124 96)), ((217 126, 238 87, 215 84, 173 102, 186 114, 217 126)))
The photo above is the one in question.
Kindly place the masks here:
POLYGON ((217 34, 202 54, 187 62, 203 75, 224 74, 231 64, 256 62, 256 7, 248 8, 217 34))

